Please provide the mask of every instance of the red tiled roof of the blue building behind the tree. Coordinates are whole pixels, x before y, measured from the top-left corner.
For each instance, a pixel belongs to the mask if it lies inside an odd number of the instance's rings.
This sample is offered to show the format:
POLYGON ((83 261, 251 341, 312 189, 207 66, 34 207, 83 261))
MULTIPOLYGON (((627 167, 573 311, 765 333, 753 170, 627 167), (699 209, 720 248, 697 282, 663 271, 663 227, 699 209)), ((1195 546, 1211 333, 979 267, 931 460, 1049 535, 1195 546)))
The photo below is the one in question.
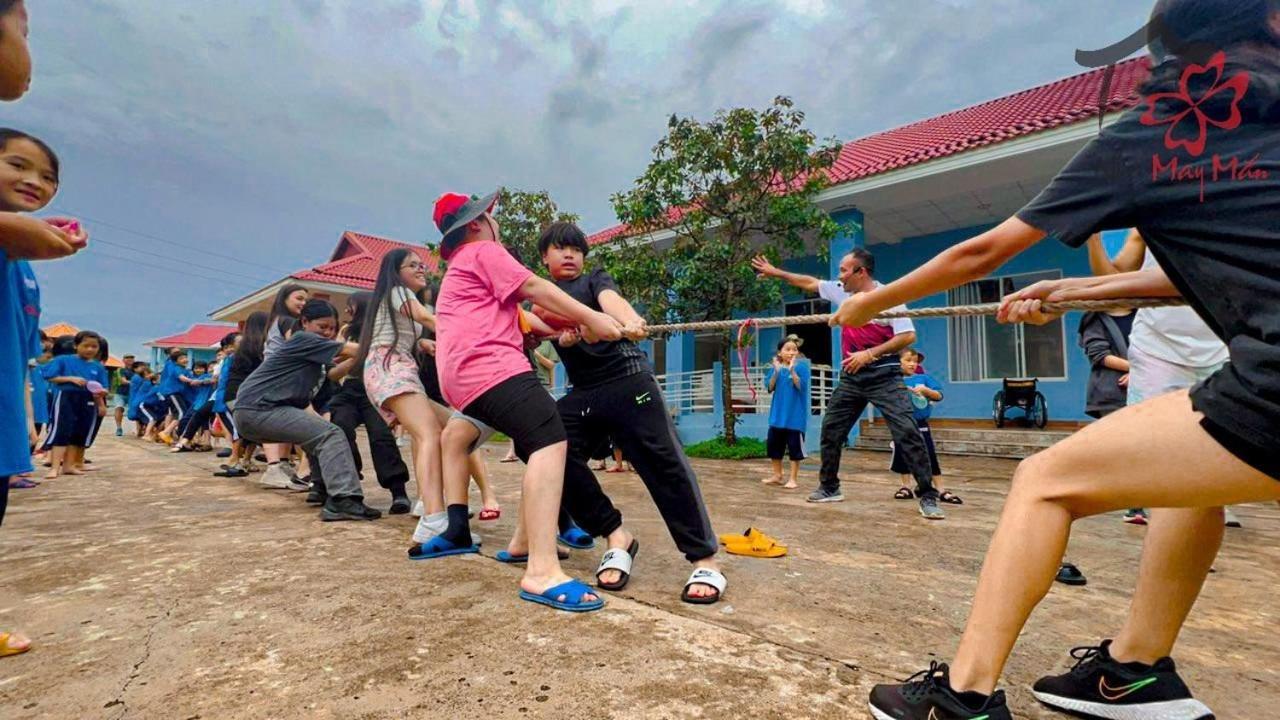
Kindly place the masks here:
MULTIPOLYGON (((1116 65, 1106 111, 1138 105, 1138 86, 1149 68, 1146 58, 1116 65)), ((1100 68, 855 140, 841 149, 831 182, 842 184, 1096 118, 1103 73, 1100 68)), ((626 225, 616 225, 588 242, 608 242, 626 232, 626 225)))

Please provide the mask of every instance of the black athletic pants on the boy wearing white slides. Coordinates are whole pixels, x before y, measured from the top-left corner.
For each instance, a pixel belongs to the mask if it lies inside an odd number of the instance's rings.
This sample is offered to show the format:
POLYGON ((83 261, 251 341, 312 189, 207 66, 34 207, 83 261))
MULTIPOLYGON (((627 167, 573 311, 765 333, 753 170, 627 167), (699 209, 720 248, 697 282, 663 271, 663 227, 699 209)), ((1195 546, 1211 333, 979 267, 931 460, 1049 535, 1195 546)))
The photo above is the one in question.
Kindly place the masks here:
POLYGON ((557 405, 568 436, 562 502, 584 530, 603 537, 622 527, 622 514, 588 466, 591 451, 612 437, 644 480, 685 557, 692 562, 716 555, 718 542, 698 477, 653 375, 636 373, 593 388, 573 388, 557 405))

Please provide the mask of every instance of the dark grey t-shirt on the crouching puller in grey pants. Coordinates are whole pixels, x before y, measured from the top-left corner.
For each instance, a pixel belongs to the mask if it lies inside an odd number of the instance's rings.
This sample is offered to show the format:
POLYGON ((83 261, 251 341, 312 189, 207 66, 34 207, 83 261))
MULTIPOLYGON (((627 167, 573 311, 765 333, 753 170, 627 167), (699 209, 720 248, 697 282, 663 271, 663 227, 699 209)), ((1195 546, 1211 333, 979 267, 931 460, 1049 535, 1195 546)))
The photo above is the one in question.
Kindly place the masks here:
POLYGON ((325 366, 342 346, 315 333, 293 333, 244 380, 236 396, 236 410, 306 407, 326 379, 325 366))

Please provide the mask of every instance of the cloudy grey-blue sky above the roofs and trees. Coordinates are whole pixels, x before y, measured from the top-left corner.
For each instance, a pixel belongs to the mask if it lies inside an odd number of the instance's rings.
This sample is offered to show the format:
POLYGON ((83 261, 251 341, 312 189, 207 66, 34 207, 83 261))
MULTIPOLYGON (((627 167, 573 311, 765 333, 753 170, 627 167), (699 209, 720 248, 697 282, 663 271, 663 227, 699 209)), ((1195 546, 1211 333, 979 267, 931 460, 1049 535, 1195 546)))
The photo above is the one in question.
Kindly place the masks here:
POLYGON ((38 0, 0 126, 61 159, 45 324, 114 355, 329 259, 435 242, 442 192, 547 190, 588 232, 672 114, 788 95, 854 140, 1066 77, 1144 0, 38 0))

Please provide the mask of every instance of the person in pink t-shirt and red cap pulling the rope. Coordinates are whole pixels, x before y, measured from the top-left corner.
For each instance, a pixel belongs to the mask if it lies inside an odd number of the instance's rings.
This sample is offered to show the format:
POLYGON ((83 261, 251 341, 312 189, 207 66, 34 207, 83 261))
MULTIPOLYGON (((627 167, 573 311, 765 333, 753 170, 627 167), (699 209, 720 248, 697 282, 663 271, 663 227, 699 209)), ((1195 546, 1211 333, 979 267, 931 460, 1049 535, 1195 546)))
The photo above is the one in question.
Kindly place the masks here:
MULTIPOLYGON (((531 300, 608 340, 622 337, 625 328, 516 261, 500 245, 498 223, 489 214, 495 199, 497 193, 484 199, 445 193, 435 202, 435 224, 444 236, 440 255, 449 263, 435 307, 440 387, 460 411, 511 437, 526 464, 521 512, 508 546, 511 555, 529 559, 520 597, 575 612, 599 610, 604 601, 566 575, 556 555, 568 443, 556 401, 525 356, 520 302, 531 300)), ((466 473, 445 468, 444 477, 449 527, 422 543, 416 559, 476 551, 467 484, 453 482, 466 473)))

